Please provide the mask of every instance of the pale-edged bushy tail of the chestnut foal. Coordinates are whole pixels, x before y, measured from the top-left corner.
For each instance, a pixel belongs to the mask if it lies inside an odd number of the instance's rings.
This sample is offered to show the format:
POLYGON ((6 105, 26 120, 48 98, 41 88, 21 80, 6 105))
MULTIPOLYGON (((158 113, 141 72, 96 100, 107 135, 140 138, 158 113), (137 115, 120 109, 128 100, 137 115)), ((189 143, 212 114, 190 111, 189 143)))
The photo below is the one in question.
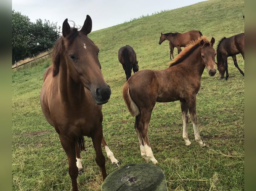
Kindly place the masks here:
POLYGON ((123 86, 123 98, 131 115, 135 117, 138 114, 140 114, 140 110, 139 110, 139 107, 136 105, 136 103, 134 103, 134 101, 132 100, 129 93, 129 88, 130 88, 130 83, 126 82, 123 86))

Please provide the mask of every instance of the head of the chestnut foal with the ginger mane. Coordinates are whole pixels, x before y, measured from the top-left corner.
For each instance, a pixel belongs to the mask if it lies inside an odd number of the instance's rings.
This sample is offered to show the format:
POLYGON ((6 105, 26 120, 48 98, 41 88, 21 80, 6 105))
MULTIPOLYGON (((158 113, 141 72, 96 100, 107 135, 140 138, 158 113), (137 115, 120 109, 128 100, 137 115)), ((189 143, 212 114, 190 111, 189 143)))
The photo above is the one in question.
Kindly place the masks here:
POLYGON ((202 39, 199 43, 201 47, 202 62, 206 66, 208 70, 208 74, 210 76, 214 76, 216 74, 216 69, 214 65, 216 51, 213 48, 214 43, 215 43, 215 39, 213 37, 211 42, 205 42, 204 39, 202 39))

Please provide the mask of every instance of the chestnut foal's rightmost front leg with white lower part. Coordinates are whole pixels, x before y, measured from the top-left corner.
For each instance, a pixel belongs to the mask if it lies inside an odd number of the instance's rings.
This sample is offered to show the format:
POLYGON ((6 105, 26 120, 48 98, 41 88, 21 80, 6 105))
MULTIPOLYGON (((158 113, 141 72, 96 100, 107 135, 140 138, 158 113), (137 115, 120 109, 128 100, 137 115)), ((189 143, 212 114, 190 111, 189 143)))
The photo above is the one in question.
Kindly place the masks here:
POLYGON ((195 139, 202 147, 204 147, 206 144, 202 141, 199 130, 198 130, 198 120, 197 120, 197 112, 196 112, 196 95, 193 97, 190 97, 188 102, 188 110, 189 110, 191 121, 193 124, 195 139))

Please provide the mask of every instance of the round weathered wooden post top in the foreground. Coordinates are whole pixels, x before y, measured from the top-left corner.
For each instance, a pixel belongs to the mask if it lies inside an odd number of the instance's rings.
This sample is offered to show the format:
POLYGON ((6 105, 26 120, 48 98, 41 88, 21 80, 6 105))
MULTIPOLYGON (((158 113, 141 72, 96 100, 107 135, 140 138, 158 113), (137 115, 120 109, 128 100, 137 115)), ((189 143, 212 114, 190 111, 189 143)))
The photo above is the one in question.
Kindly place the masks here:
POLYGON ((129 164, 109 174, 102 191, 168 191, 162 169, 154 164, 129 164))

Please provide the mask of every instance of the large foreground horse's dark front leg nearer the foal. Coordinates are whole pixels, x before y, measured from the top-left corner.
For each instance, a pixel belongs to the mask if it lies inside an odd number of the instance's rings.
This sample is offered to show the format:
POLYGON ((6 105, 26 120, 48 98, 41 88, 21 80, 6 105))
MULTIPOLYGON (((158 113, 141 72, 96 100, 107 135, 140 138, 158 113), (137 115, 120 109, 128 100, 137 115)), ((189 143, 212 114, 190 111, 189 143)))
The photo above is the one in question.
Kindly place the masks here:
POLYGON ((101 126, 101 127, 98 127, 98 129, 95 129, 95 133, 92 137, 92 141, 93 141, 93 147, 96 152, 95 160, 101 169, 102 177, 104 180, 107 177, 107 172, 106 172, 106 167, 105 167, 105 157, 104 157, 104 155, 102 153, 102 149, 101 149, 102 137, 103 137, 103 134, 102 134, 102 126, 101 126))

